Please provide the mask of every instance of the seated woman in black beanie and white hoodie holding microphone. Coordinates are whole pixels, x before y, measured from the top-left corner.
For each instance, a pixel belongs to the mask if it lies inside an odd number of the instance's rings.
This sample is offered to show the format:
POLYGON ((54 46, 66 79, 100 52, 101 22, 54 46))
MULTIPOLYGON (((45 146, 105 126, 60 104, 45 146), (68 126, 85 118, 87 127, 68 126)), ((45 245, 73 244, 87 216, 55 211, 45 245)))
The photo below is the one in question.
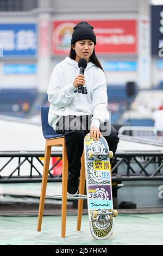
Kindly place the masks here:
POLYGON ((109 123, 105 74, 95 54, 96 35, 89 23, 82 21, 72 34, 70 57, 55 66, 47 90, 48 121, 56 133, 64 134, 68 157, 68 196, 78 193, 80 157, 87 133, 94 139, 103 135, 115 153, 118 133, 109 123), (84 75, 79 75, 78 62, 86 59, 84 75), (82 84, 82 93, 78 86, 82 84))

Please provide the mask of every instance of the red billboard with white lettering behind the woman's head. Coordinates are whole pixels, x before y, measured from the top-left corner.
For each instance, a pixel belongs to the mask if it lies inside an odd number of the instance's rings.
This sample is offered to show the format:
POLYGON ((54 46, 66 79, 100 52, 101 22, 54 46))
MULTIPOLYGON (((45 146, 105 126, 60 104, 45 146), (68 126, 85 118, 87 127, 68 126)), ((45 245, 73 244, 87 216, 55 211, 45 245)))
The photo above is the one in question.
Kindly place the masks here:
MULTIPOLYGON (((73 27, 81 20, 53 21, 53 54, 70 52, 73 27)), ((136 54, 136 20, 86 20, 93 27, 97 38, 96 53, 136 54)))

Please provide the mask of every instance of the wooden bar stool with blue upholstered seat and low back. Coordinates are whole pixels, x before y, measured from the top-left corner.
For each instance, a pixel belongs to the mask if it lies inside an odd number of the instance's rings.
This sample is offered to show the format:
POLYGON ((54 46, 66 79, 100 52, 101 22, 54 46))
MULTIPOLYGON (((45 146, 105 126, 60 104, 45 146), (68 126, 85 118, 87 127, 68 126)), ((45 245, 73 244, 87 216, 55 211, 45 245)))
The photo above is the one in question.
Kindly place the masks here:
MULTIPOLYGON (((41 124, 43 137, 46 139, 45 145, 45 157, 43 163, 43 174, 42 174, 42 184, 41 184, 41 195, 39 204, 39 217, 37 223, 37 231, 41 231, 43 209, 46 197, 46 187, 49 174, 49 162, 51 158, 51 148, 62 146, 62 194, 60 196, 62 200, 62 210, 61 210, 61 237, 66 236, 66 210, 67 210, 67 179, 68 179, 68 160, 67 160, 67 149, 65 143, 65 136, 62 134, 57 134, 53 128, 48 124, 48 106, 41 107, 41 124)), ((81 228, 82 221, 82 211, 83 211, 83 199, 86 196, 84 194, 85 187, 85 167, 84 167, 84 153, 82 155, 81 161, 82 167, 80 170, 80 182, 79 182, 79 195, 82 197, 77 197, 78 199, 78 216, 77 216, 77 230, 81 228), (81 199, 83 198, 83 199, 81 199)), ((69 199, 69 198, 68 198, 69 199)))

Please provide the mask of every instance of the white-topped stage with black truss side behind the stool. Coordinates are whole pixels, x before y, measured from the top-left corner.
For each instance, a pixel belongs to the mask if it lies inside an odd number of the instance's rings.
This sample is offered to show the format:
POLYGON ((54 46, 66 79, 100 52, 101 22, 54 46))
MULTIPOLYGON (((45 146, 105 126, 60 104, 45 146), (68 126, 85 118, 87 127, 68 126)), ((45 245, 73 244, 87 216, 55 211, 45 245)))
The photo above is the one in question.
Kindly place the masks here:
MULTIPOLYGON (((40 182, 42 179, 45 139, 41 126, 27 120, 0 117, 0 183, 40 182)), ((53 168, 62 157, 61 147, 52 148, 60 157, 49 169, 49 182, 61 181, 53 168)), ((112 182, 127 180, 163 180, 163 142, 120 135, 112 161, 112 182)))

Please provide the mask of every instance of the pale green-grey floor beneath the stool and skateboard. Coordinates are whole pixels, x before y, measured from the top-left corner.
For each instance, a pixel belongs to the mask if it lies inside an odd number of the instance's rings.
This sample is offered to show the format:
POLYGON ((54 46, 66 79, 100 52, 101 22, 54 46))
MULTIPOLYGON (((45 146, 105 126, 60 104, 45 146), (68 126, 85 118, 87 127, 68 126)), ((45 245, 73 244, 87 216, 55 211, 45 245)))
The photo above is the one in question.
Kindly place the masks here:
POLYGON ((60 237, 61 217, 44 216, 42 231, 36 231, 37 217, 0 217, 0 245, 163 245, 163 214, 124 215, 115 219, 114 235, 95 240, 89 218, 82 218, 76 231, 76 216, 67 216, 66 238, 60 237))

